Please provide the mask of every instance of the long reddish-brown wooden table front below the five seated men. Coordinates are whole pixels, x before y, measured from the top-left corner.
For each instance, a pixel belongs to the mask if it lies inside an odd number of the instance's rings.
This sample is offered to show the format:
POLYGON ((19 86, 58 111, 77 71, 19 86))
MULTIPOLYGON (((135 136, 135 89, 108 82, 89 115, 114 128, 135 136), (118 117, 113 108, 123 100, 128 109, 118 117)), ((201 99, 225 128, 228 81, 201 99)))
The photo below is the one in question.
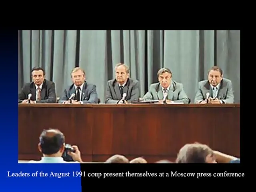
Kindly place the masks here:
POLYGON ((19 160, 40 159, 39 136, 48 128, 78 145, 84 161, 104 162, 113 154, 175 160, 195 141, 240 157, 239 104, 19 104, 19 160))

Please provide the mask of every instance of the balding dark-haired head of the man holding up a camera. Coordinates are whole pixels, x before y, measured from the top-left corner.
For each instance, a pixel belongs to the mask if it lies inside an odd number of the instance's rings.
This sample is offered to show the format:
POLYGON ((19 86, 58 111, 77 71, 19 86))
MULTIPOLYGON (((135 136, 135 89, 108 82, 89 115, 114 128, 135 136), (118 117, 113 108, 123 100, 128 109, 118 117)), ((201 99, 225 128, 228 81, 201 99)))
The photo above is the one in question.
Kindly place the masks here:
POLYGON ((56 129, 44 130, 40 135, 38 148, 46 157, 61 157, 65 150, 65 136, 56 129))

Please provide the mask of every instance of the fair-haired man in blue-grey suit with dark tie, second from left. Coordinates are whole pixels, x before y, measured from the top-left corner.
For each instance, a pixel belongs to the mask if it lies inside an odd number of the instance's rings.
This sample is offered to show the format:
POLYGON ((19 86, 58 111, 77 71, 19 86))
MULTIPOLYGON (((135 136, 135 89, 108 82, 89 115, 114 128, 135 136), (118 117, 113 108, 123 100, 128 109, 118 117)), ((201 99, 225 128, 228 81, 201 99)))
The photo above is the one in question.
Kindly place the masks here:
POLYGON ((63 104, 88 104, 98 103, 96 85, 86 82, 85 72, 82 68, 76 67, 71 72, 73 84, 66 88, 59 100, 63 104), (74 96, 72 96, 72 94, 74 96))

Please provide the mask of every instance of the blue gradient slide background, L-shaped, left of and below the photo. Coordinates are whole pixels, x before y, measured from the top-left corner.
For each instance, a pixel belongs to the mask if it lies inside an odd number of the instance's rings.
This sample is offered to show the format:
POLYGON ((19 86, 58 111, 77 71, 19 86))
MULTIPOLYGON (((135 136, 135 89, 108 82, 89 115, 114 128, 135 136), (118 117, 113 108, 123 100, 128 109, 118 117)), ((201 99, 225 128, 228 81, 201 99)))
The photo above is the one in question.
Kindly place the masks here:
MULTIPOLYGON (((18 30, 0 31, 1 114, 0 191, 40 192, 52 189, 81 191, 81 178, 72 177, 80 164, 18 164, 18 30), (8 177, 10 173, 30 173, 30 177, 8 177), (33 172, 70 172, 68 178, 32 177, 33 172)), ((38 136, 35 136, 39 138, 38 136)))

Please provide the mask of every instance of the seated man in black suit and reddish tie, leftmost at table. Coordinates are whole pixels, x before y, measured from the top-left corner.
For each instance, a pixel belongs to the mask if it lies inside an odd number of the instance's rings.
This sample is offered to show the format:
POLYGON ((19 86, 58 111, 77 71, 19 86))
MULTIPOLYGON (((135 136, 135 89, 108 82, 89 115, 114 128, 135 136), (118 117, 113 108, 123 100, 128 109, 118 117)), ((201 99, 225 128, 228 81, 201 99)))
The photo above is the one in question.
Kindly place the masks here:
POLYGON ((18 103, 28 103, 28 94, 31 94, 30 103, 56 103, 55 84, 44 78, 44 69, 33 68, 31 76, 33 82, 23 86, 19 93, 18 103))

